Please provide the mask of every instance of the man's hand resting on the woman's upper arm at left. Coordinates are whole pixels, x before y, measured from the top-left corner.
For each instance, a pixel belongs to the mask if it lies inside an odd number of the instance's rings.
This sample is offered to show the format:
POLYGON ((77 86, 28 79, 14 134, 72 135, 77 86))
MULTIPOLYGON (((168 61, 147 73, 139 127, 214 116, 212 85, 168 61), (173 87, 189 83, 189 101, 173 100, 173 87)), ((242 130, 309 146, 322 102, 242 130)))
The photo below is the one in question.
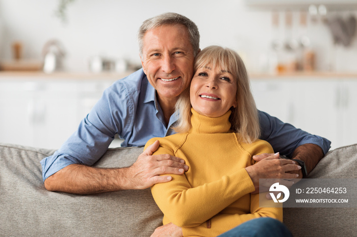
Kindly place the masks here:
POLYGON ((171 176, 160 175, 183 174, 188 170, 183 159, 167 154, 152 156, 159 146, 158 140, 149 145, 138 160, 128 168, 127 177, 132 179, 133 189, 146 189, 154 184, 169 182, 171 176))

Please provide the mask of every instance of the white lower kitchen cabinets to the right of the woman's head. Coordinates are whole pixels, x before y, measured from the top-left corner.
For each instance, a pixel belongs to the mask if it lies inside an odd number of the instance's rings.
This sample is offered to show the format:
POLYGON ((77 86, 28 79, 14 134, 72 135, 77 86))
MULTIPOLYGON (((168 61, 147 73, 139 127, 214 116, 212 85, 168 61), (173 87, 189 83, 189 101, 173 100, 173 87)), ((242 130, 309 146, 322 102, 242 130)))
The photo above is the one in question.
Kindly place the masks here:
POLYGON ((254 78, 258 109, 329 139, 331 149, 357 143, 357 80, 345 78, 254 78))

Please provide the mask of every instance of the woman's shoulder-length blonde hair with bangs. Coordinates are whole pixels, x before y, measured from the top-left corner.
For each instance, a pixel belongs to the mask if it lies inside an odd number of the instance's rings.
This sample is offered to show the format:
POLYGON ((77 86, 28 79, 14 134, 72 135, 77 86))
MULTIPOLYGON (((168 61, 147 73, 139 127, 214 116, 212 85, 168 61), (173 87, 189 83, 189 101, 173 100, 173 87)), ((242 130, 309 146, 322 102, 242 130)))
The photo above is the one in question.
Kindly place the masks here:
MULTIPOLYGON (((228 70, 237 79, 237 108, 232 107, 230 116, 231 130, 241 134, 244 142, 252 142, 260 136, 259 116, 256 103, 250 91, 249 78, 242 58, 232 49, 220 46, 209 46, 200 51, 194 64, 198 68, 210 66, 219 70, 228 70)), ((176 113, 180 113, 175 126, 177 132, 188 132, 191 128, 190 87, 181 95, 176 103, 176 113)))

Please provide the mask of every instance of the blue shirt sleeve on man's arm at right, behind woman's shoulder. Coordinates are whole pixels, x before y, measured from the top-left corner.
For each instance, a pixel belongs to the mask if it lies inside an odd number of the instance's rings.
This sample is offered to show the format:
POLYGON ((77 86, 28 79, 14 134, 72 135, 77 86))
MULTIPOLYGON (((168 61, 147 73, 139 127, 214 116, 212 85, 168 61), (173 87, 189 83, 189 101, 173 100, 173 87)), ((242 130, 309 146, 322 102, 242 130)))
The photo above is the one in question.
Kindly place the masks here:
POLYGON ((321 147, 324 154, 330 149, 331 142, 326 138, 312 135, 291 124, 283 123, 268 113, 259 111, 261 139, 268 141, 274 149, 282 155, 291 157, 296 147, 306 143, 321 147))

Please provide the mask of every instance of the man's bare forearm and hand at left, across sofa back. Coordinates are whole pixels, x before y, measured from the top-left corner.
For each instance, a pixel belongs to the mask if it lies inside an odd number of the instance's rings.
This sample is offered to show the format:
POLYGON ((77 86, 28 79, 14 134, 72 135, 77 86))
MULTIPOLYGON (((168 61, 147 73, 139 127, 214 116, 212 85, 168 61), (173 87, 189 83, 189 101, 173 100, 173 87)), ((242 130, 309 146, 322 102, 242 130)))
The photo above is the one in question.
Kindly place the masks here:
POLYGON ((71 164, 53 175, 45 182, 48 191, 90 194, 117 191, 123 189, 145 189, 156 183, 168 182, 171 176, 161 174, 183 174, 188 170, 185 161, 169 156, 151 156, 160 143, 154 144, 139 156, 130 167, 98 168, 80 164, 71 164))

